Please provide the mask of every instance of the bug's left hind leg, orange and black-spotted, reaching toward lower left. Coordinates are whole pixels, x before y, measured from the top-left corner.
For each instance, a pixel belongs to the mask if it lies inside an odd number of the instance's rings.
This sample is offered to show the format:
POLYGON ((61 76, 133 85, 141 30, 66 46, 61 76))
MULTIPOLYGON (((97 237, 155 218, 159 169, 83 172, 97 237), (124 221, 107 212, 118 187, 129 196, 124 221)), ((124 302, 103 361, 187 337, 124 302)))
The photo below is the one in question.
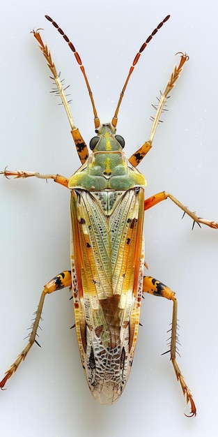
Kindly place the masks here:
POLYGON ((36 340, 36 336, 37 336, 37 329, 42 314, 42 307, 44 304, 45 295, 52 293, 56 290, 61 290, 62 288, 70 287, 70 286, 71 286, 71 272, 69 270, 65 270, 60 274, 56 275, 51 281, 49 281, 45 285, 44 290, 42 291, 42 294, 40 296, 40 302, 38 304, 38 309, 36 311, 36 318, 33 321, 33 325, 31 326, 32 330, 31 330, 31 334, 29 335, 29 341, 26 344, 25 348, 22 350, 22 353, 18 355, 17 360, 15 360, 15 362, 13 362, 13 364, 10 366, 8 371, 6 371, 6 376, 4 376, 4 378, 0 381, 1 389, 4 387, 10 376, 12 376, 13 373, 15 373, 17 367, 20 365, 22 360, 26 358, 26 355, 29 353, 29 350, 31 349, 31 346, 33 346, 33 343, 36 342, 38 344, 38 341, 36 340))

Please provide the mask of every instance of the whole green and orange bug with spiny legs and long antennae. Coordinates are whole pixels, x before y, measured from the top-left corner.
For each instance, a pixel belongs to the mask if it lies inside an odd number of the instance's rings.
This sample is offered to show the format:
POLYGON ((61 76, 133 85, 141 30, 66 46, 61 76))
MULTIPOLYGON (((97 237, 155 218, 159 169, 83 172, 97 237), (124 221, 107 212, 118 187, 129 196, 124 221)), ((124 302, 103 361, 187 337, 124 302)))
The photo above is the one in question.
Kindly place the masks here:
POLYGON ((65 89, 56 72, 49 49, 42 41, 40 29, 33 31, 33 36, 39 43, 47 66, 52 71, 56 92, 61 97, 68 116, 81 167, 70 179, 61 175, 40 175, 38 172, 22 170, 5 169, 1 172, 5 177, 53 179, 54 182, 70 189, 72 238, 71 270, 61 272, 45 285, 29 341, 22 353, 18 355, 17 360, 6 371, 0 387, 3 389, 7 380, 15 373, 33 343, 38 344, 36 335, 45 295, 64 287, 70 287, 74 299, 75 329, 81 363, 88 386, 99 403, 109 405, 116 402, 130 375, 139 332, 141 297, 143 292, 148 292, 173 301, 171 342, 168 352, 182 392, 187 403, 190 403, 190 415, 196 415, 194 399, 176 360, 178 336, 175 292, 157 279, 143 276, 143 268, 146 265, 143 249, 143 215, 145 210, 169 198, 182 209, 184 214, 189 215, 194 223, 208 225, 214 229, 218 228, 218 223, 198 218, 173 195, 165 191, 144 200, 146 179, 137 170, 137 165, 152 147, 166 99, 176 84, 188 57, 180 53, 180 62, 174 67, 170 80, 158 99, 158 105, 155 106, 156 113, 150 137, 127 159, 123 152, 124 139, 116 135, 120 103, 141 53, 157 31, 169 20, 169 15, 153 30, 134 57, 120 93, 114 117, 111 123, 107 124, 100 124, 91 87, 74 45, 52 18, 47 15, 45 17, 52 22, 75 54, 91 99, 96 135, 90 141, 92 153, 89 155, 86 143, 72 119, 65 89))

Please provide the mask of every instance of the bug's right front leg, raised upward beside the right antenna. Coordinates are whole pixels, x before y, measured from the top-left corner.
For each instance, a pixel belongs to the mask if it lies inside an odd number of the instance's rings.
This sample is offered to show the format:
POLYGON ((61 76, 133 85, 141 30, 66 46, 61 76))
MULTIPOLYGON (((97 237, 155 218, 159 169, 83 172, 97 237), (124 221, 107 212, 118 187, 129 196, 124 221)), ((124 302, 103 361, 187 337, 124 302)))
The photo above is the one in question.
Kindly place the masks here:
POLYGON ((170 91, 175 86, 176 81, 180 77, 180 74, 182 73, 182 67, 185 64, 185 62, 188 61, 188 59, 189 59, 189 57, 187 56, 187 54, 181 53, 180 64, 178 65, 178 67, 177 66, 174 67, 173 72, 171 73, 171 78, 167 82, 166 88, 164 89, 164 92, 161 93, 161 97, 158 98, 158 101, 159 101, 158 106, 153 105, 153 108, 155 108, 155 110, 156 110, 156 114, 155 114, 155 117, 152 118, 153 124, 152 124, 151 130, 150 130, 150 137, 148 138, 148 141, 144 142, 144 144, 140 147, 139 150, 137 150, 132 156, 130 156, 130 159, 129 159, 130 163, 132 165, 134 165, 134 167, 137 167, 137 165, 139 165, 141 160, 146 156, 146 154, 148 153, 148 151, 152 147, 152 143, 153 143, 153 139, 154 139, 155 132, 157 129, 157 125, 159 124, 159 118, 160 118, 162 112, 164 112, 164 110, 166 110, 164 108, 164 106, 166 105, 166 99, 168 98, 170 91))

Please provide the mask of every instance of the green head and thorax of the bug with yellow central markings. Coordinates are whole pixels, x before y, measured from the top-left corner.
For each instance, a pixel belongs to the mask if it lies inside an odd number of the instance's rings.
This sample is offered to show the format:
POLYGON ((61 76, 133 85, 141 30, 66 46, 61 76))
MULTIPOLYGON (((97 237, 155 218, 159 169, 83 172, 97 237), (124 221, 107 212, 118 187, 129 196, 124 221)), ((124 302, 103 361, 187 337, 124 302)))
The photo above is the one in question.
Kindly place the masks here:
POLYGON ((146 179, 127 160, 123 148, 115 137, 111 124, 102 124, 98 130, 97 144, 84 165, 69 180, 69 188, 87 191, 104 189, 128 190, 146 186, 146 179))

